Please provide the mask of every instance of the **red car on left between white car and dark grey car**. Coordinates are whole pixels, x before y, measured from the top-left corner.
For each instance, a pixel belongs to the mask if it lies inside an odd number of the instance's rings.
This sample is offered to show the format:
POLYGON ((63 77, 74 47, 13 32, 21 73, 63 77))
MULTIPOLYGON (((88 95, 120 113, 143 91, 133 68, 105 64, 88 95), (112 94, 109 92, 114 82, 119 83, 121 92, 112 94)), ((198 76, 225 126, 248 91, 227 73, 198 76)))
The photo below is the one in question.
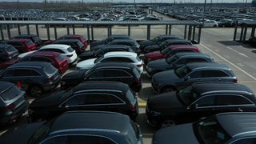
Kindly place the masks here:
POLYGON ((60 74, 65 73, 66 70, 69 69, 69 64, 66 61, 66 58, 63 57, 60 53, 52 51, 35 51, 34 53, 27 54, 23 58, 15 58, 11 59, 10 61, 2 62, 0 63, 0 69, 5 69, 14 63, 27 61, 50 62, 54 67, 58 69, 60 74))

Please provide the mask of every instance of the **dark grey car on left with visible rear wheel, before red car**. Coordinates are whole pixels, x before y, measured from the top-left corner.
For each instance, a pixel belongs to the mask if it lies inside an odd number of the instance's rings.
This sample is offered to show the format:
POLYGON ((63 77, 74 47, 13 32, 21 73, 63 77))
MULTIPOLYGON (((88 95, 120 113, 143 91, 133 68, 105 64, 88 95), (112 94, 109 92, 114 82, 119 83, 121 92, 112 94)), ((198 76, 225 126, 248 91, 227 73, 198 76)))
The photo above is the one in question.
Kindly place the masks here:
POLYGON ((49 62, 18 62, 0 72, 0 80, 21 83, 21 89, 34 97, 54 90, 60 83, 58 69, 49 62))

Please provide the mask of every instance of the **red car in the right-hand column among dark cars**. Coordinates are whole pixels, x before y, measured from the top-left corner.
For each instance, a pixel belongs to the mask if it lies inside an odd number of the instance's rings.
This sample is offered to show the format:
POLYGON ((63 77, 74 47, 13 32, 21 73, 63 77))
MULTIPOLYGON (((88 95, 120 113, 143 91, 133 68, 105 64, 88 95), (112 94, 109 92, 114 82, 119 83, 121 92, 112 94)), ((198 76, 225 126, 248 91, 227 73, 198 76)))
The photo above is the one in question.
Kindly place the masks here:
POLYGON ((173 45, 168 46, 163 50, 150 52, 144 55, 144 63, 147 64, 150 61, 170 57, 179 52, 200 52, 199 48, 194 45, 173 45))

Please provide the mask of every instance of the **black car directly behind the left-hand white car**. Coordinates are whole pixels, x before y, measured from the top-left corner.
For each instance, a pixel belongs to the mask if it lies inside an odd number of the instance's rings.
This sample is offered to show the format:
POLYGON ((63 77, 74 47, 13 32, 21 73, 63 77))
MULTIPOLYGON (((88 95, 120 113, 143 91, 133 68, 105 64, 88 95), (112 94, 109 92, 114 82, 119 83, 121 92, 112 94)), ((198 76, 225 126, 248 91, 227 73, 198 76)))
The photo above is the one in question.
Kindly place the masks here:
POLYGON ((79 55, 86 50, 86 46, 79 39, 58 39, 53 44, 65 44, 70 45, 72 49, 79 55))

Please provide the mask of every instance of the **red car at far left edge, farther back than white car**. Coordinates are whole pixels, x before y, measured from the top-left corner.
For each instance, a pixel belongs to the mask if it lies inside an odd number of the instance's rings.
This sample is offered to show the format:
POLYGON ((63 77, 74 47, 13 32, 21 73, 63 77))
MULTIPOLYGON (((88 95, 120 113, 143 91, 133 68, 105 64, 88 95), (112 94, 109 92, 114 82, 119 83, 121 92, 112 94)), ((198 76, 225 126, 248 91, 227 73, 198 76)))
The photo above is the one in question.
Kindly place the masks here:
POLYGON ((25 53, 28 51, 37 50, 37 45, 30 39, 26 38, 13 38, 1 42, 2 44, 8 44, 14 46, 19 53, 25 53))

